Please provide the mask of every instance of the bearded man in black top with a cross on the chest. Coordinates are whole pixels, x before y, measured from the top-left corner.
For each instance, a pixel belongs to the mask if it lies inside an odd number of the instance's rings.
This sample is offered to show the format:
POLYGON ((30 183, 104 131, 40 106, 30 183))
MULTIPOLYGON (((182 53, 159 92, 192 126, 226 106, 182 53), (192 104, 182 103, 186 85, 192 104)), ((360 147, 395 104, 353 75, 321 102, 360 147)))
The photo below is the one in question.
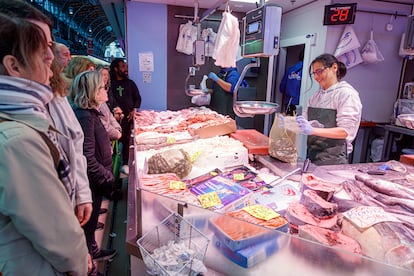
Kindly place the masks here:
POLYGON ((108 93, 109 105, 113 109, 119 106, 125 117, 121 120, 122 167, 121 172, 129 174, 128 158, 131 129, 134 115, 141 106, 141 95, 135 82, 128 78, 128 66, 123 59, 114 59, 110 66, 111 88, 108 93))

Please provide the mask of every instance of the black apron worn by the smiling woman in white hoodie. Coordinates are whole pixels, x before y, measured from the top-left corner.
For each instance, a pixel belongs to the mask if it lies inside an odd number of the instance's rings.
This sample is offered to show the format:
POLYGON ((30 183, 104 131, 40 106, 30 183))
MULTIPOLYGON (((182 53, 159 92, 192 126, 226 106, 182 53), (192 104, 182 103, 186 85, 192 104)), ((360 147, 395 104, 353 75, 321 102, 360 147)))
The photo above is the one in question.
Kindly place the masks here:
MULTIPOLYGON (((336 110, 309 107, 308 120, 318 120, 325 128, 336 127, 336 110)), ((307 157, 316 165, 348 164, 346 140, 309 135, 307 157)))

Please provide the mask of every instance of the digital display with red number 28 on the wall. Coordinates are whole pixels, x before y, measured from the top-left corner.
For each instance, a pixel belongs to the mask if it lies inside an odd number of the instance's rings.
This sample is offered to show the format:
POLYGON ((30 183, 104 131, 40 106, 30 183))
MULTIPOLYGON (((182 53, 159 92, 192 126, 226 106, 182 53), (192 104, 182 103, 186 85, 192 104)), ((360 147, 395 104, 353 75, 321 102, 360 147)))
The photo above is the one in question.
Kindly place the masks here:
POLYGON ((325 6, 323 25, 354 24, 357 3, 325 6))

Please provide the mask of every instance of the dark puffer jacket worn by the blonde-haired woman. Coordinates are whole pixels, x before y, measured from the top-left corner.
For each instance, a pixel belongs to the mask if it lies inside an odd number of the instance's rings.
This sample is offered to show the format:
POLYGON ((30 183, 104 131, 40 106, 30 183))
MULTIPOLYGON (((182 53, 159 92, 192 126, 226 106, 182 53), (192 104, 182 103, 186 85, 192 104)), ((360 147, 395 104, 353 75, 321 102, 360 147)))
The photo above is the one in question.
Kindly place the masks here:
POLYGON ((111 142, 96 109, 74 109, 85 140, 83 154, 88 163, 89 185, 93 191, 106 194, 113 189, 111 142))

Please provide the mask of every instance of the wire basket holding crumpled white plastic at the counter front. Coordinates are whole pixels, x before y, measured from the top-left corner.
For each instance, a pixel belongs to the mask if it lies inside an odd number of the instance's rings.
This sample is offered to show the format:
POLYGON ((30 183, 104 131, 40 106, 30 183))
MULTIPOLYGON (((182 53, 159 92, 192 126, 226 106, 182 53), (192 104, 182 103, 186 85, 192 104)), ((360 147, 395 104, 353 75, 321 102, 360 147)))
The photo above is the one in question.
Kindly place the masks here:
POLYGON ((147 272, 151 275, 197 275, 205 272, 203 262, 208 243, 209 239, 202 232, 177 213, 166 217, 137 241, 147 272))

